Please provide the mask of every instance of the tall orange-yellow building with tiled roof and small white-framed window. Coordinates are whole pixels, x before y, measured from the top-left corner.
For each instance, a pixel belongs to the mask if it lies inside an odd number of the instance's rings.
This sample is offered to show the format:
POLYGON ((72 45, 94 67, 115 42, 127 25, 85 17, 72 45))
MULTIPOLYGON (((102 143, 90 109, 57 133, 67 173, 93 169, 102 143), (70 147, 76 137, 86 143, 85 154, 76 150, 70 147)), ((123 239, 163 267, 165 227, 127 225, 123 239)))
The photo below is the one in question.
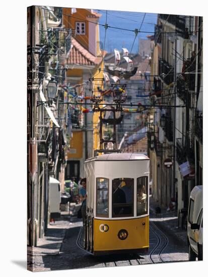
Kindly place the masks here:
MULTIPOLYGON (((89 79, 95 78, 93 87, 101 88, 103 78, 104 55, 100 50, 99 25, 100 14, 88 9, 63 8, 63 25, 72 29, 71 50, 65 59, 67 66, 67 82, 75 88, 76 93, 84 97, 91 97, 89 79)), ((83 101, 85 103, 86 100, 83 101)), ((89 103, 89 100, 87 100, 89 103)), ((83 105, 83 107, 86 107, 83 105)), ((79 106, 80 113, 83 107, 79 106)), ((92 111, 93 106, 87 106, 92 111)), ((83 164, 87 158, 93 157, 94 150, 99 149, 99 113, 88 112, 83 114, 83 126, 73 126, 73 138, 67 153, 66 179, 84 176, 83 164)))

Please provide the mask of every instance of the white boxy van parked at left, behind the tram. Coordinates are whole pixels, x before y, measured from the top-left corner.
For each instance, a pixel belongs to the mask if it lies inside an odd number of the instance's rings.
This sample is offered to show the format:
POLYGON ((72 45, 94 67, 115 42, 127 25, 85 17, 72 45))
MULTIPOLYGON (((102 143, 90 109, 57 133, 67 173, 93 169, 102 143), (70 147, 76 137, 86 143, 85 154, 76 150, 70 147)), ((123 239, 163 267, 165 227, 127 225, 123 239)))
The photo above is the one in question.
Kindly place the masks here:
POLYGON ((50 220, 60 217, 60 182, 52 177, 49 178, 49 215, 50 220))

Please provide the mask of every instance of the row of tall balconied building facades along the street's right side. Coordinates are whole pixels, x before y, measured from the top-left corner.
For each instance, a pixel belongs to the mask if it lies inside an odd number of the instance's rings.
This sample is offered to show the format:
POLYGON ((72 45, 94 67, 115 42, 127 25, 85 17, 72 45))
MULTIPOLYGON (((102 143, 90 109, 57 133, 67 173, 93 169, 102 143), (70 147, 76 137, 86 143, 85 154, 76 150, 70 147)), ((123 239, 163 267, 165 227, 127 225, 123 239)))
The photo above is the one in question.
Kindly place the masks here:
POLYGON ((159 205, 176 202, 186 213, 190 191, 202 184, 202 18, 159 14, 152 60, 162 106, 149 131, 152 191, 159 205))

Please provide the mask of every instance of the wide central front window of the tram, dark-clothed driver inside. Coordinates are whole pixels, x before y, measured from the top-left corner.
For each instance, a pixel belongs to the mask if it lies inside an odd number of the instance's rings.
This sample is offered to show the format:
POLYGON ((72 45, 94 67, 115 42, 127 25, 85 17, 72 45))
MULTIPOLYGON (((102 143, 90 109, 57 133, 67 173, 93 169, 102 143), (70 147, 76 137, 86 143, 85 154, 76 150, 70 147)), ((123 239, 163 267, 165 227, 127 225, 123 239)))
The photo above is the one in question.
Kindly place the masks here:
POLYGON ((112 217, 133 217, 133 178, 112 180, 112 217))

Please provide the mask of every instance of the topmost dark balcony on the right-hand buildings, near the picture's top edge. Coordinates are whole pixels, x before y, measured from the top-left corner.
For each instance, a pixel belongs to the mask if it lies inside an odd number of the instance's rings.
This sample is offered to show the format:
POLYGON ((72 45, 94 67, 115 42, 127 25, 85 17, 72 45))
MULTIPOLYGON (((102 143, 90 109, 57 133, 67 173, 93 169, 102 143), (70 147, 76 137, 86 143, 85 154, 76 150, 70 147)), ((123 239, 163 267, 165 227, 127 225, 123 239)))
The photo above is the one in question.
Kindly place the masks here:
POLYGON ((175 31, 177 35, 186 38, 186 17, 179 15, 163 15, 159 14, 159 18, 169 22, 170 24, 175 26, 175 31))

